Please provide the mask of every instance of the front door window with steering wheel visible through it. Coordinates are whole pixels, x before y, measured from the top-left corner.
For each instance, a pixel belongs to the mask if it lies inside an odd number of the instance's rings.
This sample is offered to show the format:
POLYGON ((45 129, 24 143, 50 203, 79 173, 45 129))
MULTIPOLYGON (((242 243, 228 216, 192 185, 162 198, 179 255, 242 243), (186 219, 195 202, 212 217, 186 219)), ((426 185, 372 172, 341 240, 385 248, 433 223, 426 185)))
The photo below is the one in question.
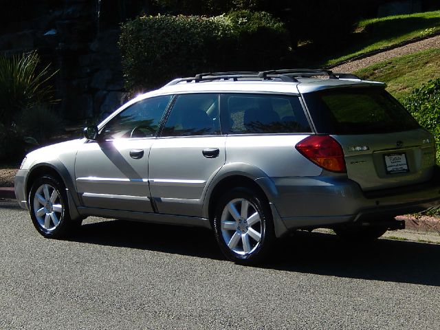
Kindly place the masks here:
POLYGON ((104 126, 104 138, 150 137, 155 134, 173 96, 157 96, 132 104, 104 126))

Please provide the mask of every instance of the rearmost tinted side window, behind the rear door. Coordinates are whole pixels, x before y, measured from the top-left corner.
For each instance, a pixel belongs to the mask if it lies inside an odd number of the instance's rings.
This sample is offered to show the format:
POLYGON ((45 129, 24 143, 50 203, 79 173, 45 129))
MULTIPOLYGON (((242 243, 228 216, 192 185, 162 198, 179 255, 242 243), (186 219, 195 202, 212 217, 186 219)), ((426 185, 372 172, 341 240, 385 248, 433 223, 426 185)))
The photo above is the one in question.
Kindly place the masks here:
POLYGON ((309 133, 311 131, 297 96, 234 94, 225 96, 229 132, 309 133))

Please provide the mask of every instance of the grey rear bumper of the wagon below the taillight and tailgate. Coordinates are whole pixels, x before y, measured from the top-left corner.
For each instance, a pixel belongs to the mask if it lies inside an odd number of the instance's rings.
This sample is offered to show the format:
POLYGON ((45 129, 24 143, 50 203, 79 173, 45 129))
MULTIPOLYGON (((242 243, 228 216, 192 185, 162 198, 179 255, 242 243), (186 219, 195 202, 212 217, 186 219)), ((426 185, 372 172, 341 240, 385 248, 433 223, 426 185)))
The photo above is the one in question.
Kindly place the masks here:
POLYGON ((286 230, 377 221, 440 206, 439 178, 375 192, 363 192, 344 177, 272 178, 276 194, 270 201, 277 213, 274 221, 282 221, 286 230))

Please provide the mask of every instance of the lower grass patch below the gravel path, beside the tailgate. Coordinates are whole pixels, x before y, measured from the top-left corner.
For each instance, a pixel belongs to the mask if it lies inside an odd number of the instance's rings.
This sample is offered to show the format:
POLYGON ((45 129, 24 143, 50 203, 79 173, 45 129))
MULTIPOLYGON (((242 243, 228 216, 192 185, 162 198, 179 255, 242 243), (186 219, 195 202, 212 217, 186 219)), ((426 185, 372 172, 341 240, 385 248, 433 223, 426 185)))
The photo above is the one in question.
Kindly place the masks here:
POLYGON ((383 81, 395 98, 403 100, 413 89, 440 77, 440 49, 395 57, 360 69, 355 74, 366 80, 383 81))

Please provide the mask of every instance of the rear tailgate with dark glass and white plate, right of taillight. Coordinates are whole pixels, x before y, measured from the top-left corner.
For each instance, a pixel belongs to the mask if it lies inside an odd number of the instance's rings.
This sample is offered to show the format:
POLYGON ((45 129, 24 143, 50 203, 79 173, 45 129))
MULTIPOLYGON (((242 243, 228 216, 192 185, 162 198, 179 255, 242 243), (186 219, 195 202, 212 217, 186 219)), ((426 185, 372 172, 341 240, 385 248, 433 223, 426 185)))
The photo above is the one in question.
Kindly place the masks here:
POLYGON ((347 175, 362 190, 428 181, 434 139, 381 87, 336 88, 304 94, 317 133, 344 150, 347 175))

